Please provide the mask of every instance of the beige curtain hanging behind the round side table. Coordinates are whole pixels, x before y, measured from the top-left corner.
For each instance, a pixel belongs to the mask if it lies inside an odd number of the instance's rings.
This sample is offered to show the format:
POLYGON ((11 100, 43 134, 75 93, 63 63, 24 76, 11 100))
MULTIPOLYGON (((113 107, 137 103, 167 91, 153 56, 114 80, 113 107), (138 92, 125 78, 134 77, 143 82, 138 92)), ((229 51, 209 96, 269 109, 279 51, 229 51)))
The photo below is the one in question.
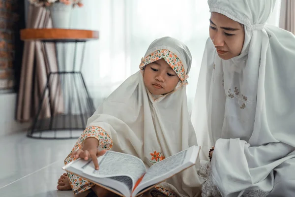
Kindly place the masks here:
MULTIPOLYGON (((52 23, 49 16, 49 11, 43 7, 35 7, 30 5, 28 12, 27 28, 51 28, 52 23)), ((47 75, 51 71, 57 71, 56 51, 55 45, 51 43, 46 44, 47 57, 44 57, 44 47, 40 41, 26 41, 24 44, 24 53, 22 60, 20 89, 18 94, 17 115, 16 119, 20 122, 31 120, 37 113, 39 106, 39 99, 42 96, 43 90, 47 82, 47 75)), ((50 98, 60 96, 59 82, 54 78, 51 86, 50 98), (55 88, 55 89, 54 89, 55 88), (59 88, 59 91, 56 91, 59 88), (57 95, 59 94, 59 95, 57 95)), ((57 103, 50 103, 48 105, 49 97, 48 91, 44 100, 42 109, 42 117, 50 117, 55 114, 57 109, 62 107, 57 106, 57 103)), ((61 102, 62 103, 62 102, 61 102)))

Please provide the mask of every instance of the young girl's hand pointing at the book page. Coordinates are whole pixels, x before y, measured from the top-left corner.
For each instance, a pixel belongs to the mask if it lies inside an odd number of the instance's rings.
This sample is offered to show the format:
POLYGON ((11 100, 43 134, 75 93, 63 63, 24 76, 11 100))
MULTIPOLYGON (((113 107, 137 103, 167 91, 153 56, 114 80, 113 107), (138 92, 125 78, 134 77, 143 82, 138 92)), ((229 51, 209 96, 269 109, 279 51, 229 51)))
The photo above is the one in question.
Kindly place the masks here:
POLYGON ((85 139, 82 149, 73 151, 71 156, 75 158, 81 158, 84 160, 92 159, 96 170, 99 169, 97 157, 102 156, 106 153, 106 150, 99 151, 97 149, 99 142, 96 138, 89 137, 85 139))

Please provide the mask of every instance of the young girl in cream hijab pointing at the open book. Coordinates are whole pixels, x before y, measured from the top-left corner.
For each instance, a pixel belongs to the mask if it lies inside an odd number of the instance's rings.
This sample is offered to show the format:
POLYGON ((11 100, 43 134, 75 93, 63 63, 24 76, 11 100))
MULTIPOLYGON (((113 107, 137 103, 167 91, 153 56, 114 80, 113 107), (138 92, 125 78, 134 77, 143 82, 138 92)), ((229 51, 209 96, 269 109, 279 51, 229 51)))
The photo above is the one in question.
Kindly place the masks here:
MULTIPOLYGON (((140 158, 147 167, 165 157, 197 145, 187 109, 187 73, 191 54, 185 44, 171 37, 153 41, 140 64, 140 71, 130 76, 89 118, 71 154, 68 164, 77 158, 93 158, 100 146, 106 150, 127 153, 140 158)), ((66 177, 59 180, 64 189, 66 177), (64 179, 62 179, 64 178, 64 179)), ((74 194, 89 190, 93 184, 68 173, 74 194)), ((201 182, 193 166, 156 187, 167 196, 195 197, 201 182)), ((93 188, 92 188, 93 189, 93 188)), ((100 197, 108 196, 95 188, 100 197)))

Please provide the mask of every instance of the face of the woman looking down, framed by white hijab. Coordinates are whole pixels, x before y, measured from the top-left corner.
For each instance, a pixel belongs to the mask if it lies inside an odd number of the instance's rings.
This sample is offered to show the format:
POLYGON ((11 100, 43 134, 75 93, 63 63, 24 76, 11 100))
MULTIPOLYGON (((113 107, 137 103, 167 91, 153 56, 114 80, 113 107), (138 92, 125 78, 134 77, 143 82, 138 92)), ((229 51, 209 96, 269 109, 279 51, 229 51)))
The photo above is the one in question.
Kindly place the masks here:
POLYGON ((209 34, 221 59, 229 60, 241 53, 245 32, 240 23, 223 14, 212 12, 209 34))

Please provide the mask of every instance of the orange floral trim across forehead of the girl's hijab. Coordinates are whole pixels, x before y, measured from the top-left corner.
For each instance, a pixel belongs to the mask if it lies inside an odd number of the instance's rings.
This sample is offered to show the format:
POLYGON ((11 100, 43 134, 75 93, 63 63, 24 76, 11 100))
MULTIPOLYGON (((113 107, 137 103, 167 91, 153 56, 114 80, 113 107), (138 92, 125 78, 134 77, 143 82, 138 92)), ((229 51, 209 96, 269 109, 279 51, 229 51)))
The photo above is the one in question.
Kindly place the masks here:
POLYGON ((173 68, 179 79, 182 83, 187 83, 188 75, 185 74, 184 66, 182 65, 182 62, 180 59, 171 51, 167 49, 160 49, 157 51, 152 52, 149 54, 145 59, 142 58, 141 64, 139 66, 140 69, 144 69, 144 66, 153 63, 157 60, 164 59, 169 66, 173 68))

